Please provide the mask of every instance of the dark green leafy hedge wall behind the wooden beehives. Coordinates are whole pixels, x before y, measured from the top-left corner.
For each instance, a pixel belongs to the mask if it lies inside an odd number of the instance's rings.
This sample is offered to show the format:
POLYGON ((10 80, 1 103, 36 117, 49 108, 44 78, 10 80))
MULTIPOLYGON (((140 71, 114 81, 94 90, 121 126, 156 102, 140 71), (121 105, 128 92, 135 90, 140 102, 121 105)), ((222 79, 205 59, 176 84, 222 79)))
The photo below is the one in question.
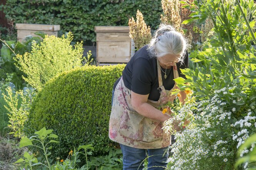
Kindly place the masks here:
POLYGON ((60 25, 60 35, 71 31, 75 42, 85 43, 96 41, 94 26, 127 26, 138 9, 156 29, 162 12, 160 0, 7 0, 1 7, 14 23, 60 25))

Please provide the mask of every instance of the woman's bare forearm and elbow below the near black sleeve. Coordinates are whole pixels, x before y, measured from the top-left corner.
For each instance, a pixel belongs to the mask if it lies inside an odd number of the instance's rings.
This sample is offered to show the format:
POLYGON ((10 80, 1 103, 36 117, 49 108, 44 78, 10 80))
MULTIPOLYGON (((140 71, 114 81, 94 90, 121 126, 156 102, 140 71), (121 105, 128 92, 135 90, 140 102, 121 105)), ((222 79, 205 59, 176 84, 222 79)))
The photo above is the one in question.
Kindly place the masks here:
POLYGON ((147 118, 164 122, 167 119, 170 119, 171 116, 168 114, 163 114, 160 110, 157 110, 153 106, 147 103, 148 95, 140 95, 131 91, 131 105, 133 106, 134 110, 145 116, 147 118))

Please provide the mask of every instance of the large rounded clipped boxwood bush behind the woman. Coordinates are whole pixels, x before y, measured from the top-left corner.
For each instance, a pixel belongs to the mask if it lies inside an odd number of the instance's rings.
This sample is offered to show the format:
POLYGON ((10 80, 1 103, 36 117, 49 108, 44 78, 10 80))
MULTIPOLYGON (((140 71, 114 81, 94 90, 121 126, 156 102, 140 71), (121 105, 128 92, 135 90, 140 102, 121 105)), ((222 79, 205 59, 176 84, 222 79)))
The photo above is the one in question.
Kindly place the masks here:
POLYGON ((112 88, 124 64, 83 66, 50 80, 35 98, 26 133, 42 127, 53 129, 60 143, 53 144, 50 157, 66 158, 79 145, 93 144, 94 155, 108 151, 112 88))

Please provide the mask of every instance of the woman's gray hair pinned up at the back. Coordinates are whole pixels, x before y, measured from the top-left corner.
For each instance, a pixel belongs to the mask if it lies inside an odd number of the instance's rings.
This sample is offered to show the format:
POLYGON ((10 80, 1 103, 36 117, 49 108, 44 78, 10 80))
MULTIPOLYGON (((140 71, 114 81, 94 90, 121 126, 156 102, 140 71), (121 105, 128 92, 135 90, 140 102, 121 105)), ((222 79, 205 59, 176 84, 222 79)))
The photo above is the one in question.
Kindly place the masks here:
POLYGON ((148 44, 148 52, 150 57, 163 57, 167 54, 180 55, 180 60, 183 61, 189 46, 187 42, 186 38, 175 28, 160 24, 148 44))

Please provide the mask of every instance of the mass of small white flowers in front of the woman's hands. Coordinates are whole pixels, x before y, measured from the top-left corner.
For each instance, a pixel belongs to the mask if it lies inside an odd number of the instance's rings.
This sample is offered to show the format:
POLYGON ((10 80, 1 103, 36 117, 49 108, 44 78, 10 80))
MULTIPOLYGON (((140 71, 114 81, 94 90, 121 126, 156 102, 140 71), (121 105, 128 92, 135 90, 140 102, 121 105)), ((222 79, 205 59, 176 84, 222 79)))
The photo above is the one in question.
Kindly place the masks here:
MULTIPOLYGON (((237 109, 233 106, 230 107, 227 104, 229 102, 221 99, 219 93, 230 94, 230 102, 233 105, 233 103, 242 100, 242 98, 234 97, 234 93, 230 92, 234 88, 236 86, 216 90, 214 91, 215 95, 210 100, 199 101, 193 104, 193 106, 184 106, 179 111, 181 115, 176 117, 182 119, 185 113, 191 111, 191 108, 196 107, 196 110, 194 110, 194 113, 196 113, 194 115, 196 124, 193 125, 192 122, 183 132, 175 134, 176 142, 170 147, 173 155, 168 159, 168 162, 171 163, 171 169, 180 170, 186 169, 186 167, 188 169, 198 169, 197 167, 200 167, 201 162, 208 162, 211 158, 214 160, 221 158, 222 163, 232 160, 230 158, 232 157, 231 150, 233 152, 232 143, 237 144, 236 148, 238 148, 249 137, 252 129, 254 129, 253 126, 256 127, 255 111, 253 112, 250 109, 247 111, 247 116, 231 124, 234 117, 237 116, 237 109), (216 136, 216 132, 223 127, 229 128, 229 132, 231 131, 230 133, 233 134, 233 136, 230 136, 233 138, 233 141, 230 141, 229 138, 224 140, 221 136, 216 136), (216 129, 213 130, 214 128, 216 129)), ((254 110, 255 106, 251 106, 251 109, 254 110)), ((245 148, 239 153, 240 156, 242 157, 244 154, 249 153, 254 147, 255 144, 252 144, 250 148, 245 148)), ((244 168, 246 166, 244 165, 244 168)))

